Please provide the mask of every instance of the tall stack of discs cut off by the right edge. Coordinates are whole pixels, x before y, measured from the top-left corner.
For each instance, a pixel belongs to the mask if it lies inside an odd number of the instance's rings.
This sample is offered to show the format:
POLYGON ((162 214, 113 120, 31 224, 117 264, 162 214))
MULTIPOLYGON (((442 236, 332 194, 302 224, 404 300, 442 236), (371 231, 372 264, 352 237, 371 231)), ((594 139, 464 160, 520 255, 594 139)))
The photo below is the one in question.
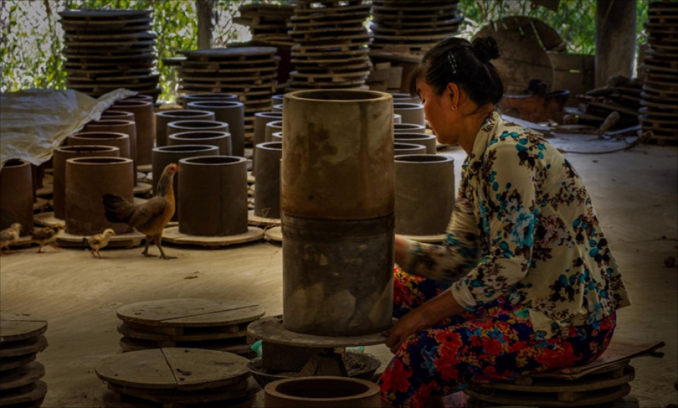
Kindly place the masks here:
POLYGON ((678 3, 652 1, 646 23, 646 80, 638 120, 656 142, 678 142, 678 3))

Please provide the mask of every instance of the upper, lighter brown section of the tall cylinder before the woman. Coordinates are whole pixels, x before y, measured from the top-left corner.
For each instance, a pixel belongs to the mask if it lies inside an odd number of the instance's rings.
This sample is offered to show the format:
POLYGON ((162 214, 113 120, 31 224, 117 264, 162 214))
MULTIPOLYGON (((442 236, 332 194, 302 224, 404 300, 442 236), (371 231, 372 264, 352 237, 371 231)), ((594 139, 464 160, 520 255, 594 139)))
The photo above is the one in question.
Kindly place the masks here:
POLYGON ((393 214, 392 106, 376 91, 285 94, 281 209, 352 220, 393 214))

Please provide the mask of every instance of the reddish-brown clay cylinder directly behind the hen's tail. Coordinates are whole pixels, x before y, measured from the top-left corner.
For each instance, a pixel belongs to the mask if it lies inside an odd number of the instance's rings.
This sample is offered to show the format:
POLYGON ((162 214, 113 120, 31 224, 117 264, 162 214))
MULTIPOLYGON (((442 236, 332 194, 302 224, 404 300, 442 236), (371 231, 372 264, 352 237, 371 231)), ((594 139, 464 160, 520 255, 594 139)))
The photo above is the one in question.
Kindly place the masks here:
POLYGON ((66 233, 93 235, 106 228, 131 233, 124 223, 105 217, 104 194, 116 194, 133 202, 133 164, 126 157, 79 157, 66 160, 66 233))

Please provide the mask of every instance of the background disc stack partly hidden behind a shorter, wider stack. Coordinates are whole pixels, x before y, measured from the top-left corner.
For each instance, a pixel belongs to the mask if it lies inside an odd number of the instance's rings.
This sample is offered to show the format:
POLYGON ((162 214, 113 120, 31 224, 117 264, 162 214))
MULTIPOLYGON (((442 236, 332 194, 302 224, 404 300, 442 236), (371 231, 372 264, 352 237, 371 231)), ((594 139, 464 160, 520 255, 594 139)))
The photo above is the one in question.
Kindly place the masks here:
POLYGON ((240 17, 234 23, 249 27, 254 41, 274 46, 292 46, 294 42, 287 35, 287 23, 294 13, 292 6, 276 4, 243 4, 240 17))

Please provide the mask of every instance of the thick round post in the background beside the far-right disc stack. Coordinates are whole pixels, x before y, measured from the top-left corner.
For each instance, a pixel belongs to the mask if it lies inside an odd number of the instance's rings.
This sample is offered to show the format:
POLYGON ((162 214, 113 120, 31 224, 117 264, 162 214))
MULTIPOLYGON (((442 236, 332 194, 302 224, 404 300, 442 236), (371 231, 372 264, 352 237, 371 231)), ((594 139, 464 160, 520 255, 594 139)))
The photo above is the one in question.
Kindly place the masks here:
POLYGON ((636 0, 597 0, 595 11, 595 87, 616 75, 634 76, 636 0))

